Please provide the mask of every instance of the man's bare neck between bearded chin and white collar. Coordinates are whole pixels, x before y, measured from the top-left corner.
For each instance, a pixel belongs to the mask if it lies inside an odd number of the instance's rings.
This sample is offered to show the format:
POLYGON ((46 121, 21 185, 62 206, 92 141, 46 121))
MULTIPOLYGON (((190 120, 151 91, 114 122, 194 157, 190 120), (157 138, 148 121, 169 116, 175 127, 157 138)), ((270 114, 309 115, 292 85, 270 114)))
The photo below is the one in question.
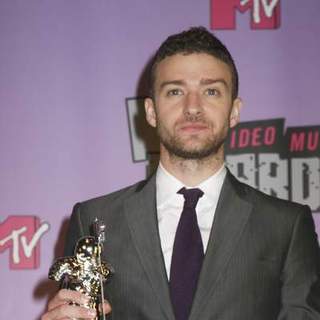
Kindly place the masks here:
POLYGON ((194 187, 214 175, 224 164, 223 148, 204 159, 182 159, 160 151, 161 165, 184 185, 194 187))

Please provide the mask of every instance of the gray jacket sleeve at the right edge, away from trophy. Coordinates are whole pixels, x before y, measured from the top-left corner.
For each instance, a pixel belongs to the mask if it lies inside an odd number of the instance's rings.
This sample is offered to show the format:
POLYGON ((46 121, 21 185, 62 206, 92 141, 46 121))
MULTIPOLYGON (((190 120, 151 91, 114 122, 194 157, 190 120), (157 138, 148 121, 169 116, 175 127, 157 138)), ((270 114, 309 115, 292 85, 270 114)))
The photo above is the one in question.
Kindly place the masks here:
POLYGON ((308 206, 297 215, 283 273, 278 320, 320 319, 320 249, 308 206))

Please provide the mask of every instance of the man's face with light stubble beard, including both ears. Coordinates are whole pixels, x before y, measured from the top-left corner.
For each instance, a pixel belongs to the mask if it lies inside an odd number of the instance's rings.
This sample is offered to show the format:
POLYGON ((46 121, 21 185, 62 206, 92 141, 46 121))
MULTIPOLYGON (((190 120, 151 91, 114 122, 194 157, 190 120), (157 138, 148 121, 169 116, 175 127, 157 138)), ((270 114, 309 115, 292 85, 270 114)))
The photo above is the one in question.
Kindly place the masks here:
POLYGON ((176 54, 162 60, 155 71, 154 100, 145 101, 161 150, 183 159, 216 154, 239 121, 241 101, 232 101, 231 92, 229 67, 211 55, 176 54))

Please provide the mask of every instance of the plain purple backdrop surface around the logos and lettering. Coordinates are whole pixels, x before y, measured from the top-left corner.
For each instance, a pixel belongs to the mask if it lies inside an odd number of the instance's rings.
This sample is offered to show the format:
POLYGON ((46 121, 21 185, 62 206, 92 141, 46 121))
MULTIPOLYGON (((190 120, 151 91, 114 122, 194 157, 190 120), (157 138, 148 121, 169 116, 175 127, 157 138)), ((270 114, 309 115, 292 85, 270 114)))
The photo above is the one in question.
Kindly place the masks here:
MULTIPOLYGON (((320 2, 281 1, 281 26, 217 31, 240 72, 243 120, 319 125, 320 2)), ((0 222, 37 216, 50 224, 40 266, 9 268, 0 255, 1 318, 36 319, 75 202, 145 177, 133 163, 127 97, 170 33, 210 27, 210 1, 2 0, 0 2, 0 222)), ((320 230, 320 215, 314 215, 320 230)))

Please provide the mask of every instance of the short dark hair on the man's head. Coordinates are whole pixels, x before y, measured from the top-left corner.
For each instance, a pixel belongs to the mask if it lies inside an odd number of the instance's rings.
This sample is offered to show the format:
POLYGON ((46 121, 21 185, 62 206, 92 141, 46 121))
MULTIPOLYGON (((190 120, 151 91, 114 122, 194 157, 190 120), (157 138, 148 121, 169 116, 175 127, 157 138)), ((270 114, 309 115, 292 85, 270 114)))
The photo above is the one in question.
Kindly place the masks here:
POLYGON ((230 68, 232 79, 232 99, 238 96, 239 76, 233 58, 225 45, 204 27, 192 27, 169 36, 159 47, 151 62, 150 94, 154 96, 155 73, 159 62, 175 54, 207 53, 230 68))

